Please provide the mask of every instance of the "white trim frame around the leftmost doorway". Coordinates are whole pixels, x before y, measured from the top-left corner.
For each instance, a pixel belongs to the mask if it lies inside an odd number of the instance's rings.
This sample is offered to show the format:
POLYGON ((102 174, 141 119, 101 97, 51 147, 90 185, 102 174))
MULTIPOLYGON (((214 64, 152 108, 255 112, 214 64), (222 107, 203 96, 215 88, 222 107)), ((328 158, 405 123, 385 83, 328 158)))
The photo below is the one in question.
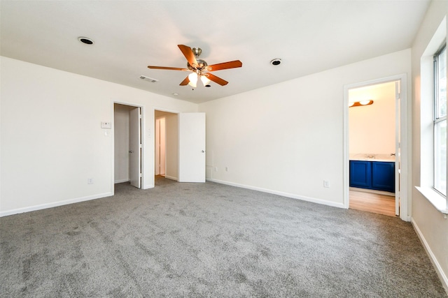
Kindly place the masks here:
POLYGON ((140 189, 144 189, 144 178, 145 178, 145 167, 144 167, 144 149, 145 149, 145 138, 144 138, 144 127, 145 127, 145 107, 143 105, 140 105, 138 103, 129 103, 123 100, 114 100, 112 99, 112 130, 111 130, 111 193, 112 195, 115 194, 115 113, 114 113, 114 106, 116 103, 119 105, 127 105, 129 107, 140 107, 141 112, 141 122, 140 122, 140 129, 141 129, 141 156, 140 156, 140 168, 141 168, 141 184, 140 189))

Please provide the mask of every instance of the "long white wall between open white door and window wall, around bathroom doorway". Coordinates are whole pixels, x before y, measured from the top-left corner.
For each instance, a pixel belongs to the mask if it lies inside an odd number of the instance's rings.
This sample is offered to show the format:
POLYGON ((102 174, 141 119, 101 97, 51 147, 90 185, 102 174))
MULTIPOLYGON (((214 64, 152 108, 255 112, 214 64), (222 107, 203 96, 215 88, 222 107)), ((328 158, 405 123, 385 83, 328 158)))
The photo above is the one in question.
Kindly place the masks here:
POLYGON ((344 85, 402 73, 410 50, 200 104, 211 180, 343 207, 344 85))

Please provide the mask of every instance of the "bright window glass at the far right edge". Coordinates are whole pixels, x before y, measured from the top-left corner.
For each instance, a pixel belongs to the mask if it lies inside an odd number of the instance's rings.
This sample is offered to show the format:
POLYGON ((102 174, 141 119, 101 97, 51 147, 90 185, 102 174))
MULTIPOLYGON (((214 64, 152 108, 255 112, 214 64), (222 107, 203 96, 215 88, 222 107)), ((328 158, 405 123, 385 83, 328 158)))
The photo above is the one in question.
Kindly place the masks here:
POLYGON ((447 47, 434 55, 434 188, 447 195, 447 47))

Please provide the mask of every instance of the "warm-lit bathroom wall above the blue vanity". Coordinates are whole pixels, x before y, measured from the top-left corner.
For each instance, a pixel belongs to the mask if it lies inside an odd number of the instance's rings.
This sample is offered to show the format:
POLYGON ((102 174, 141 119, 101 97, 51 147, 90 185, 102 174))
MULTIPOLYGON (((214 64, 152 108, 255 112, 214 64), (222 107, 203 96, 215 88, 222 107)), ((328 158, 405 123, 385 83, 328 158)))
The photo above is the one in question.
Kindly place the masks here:
POLYGON ((395 153, 395 82, 349 90, 349 101, 373 100, 349 108, 350 154, 395 153))

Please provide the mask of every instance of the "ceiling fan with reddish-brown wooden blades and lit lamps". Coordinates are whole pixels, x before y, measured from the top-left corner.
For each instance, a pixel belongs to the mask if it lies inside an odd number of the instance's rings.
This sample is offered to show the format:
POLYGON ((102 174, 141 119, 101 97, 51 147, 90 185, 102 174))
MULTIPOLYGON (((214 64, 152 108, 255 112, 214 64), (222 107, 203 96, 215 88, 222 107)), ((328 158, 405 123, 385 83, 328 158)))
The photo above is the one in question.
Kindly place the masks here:
POLYGON ((202 53, 202 50, 199 47, 193 47, 193 49, 191 49, 191 47, 188 47, 187 45, 177 45, 177 46, 179 47, 179 49, 181 49, 183 56, 185 56, 188 61, 187 68, 151 66, 151 65, 148 66, 148 68, 191 71, 192 73, 190 73, 190 75, 188 75, 188 77, 186 77, 185 80, 181 82, 180 84, 181 86, 186 86, 187 84, 189 84, 191 87, 196 88, 198 78, 201 79, 204 86, 210 87, 209 85, 210 81, 216 82, 217 84, 224 86, 228 84, 228 82, 226 80, 221 79, 221 77, 217 77, 216 75, 209 73, 209 71, 237 68, 243 66, 243 64, 239 60, 208 65, 206 61, 199 59, 200 54, 202 53))

